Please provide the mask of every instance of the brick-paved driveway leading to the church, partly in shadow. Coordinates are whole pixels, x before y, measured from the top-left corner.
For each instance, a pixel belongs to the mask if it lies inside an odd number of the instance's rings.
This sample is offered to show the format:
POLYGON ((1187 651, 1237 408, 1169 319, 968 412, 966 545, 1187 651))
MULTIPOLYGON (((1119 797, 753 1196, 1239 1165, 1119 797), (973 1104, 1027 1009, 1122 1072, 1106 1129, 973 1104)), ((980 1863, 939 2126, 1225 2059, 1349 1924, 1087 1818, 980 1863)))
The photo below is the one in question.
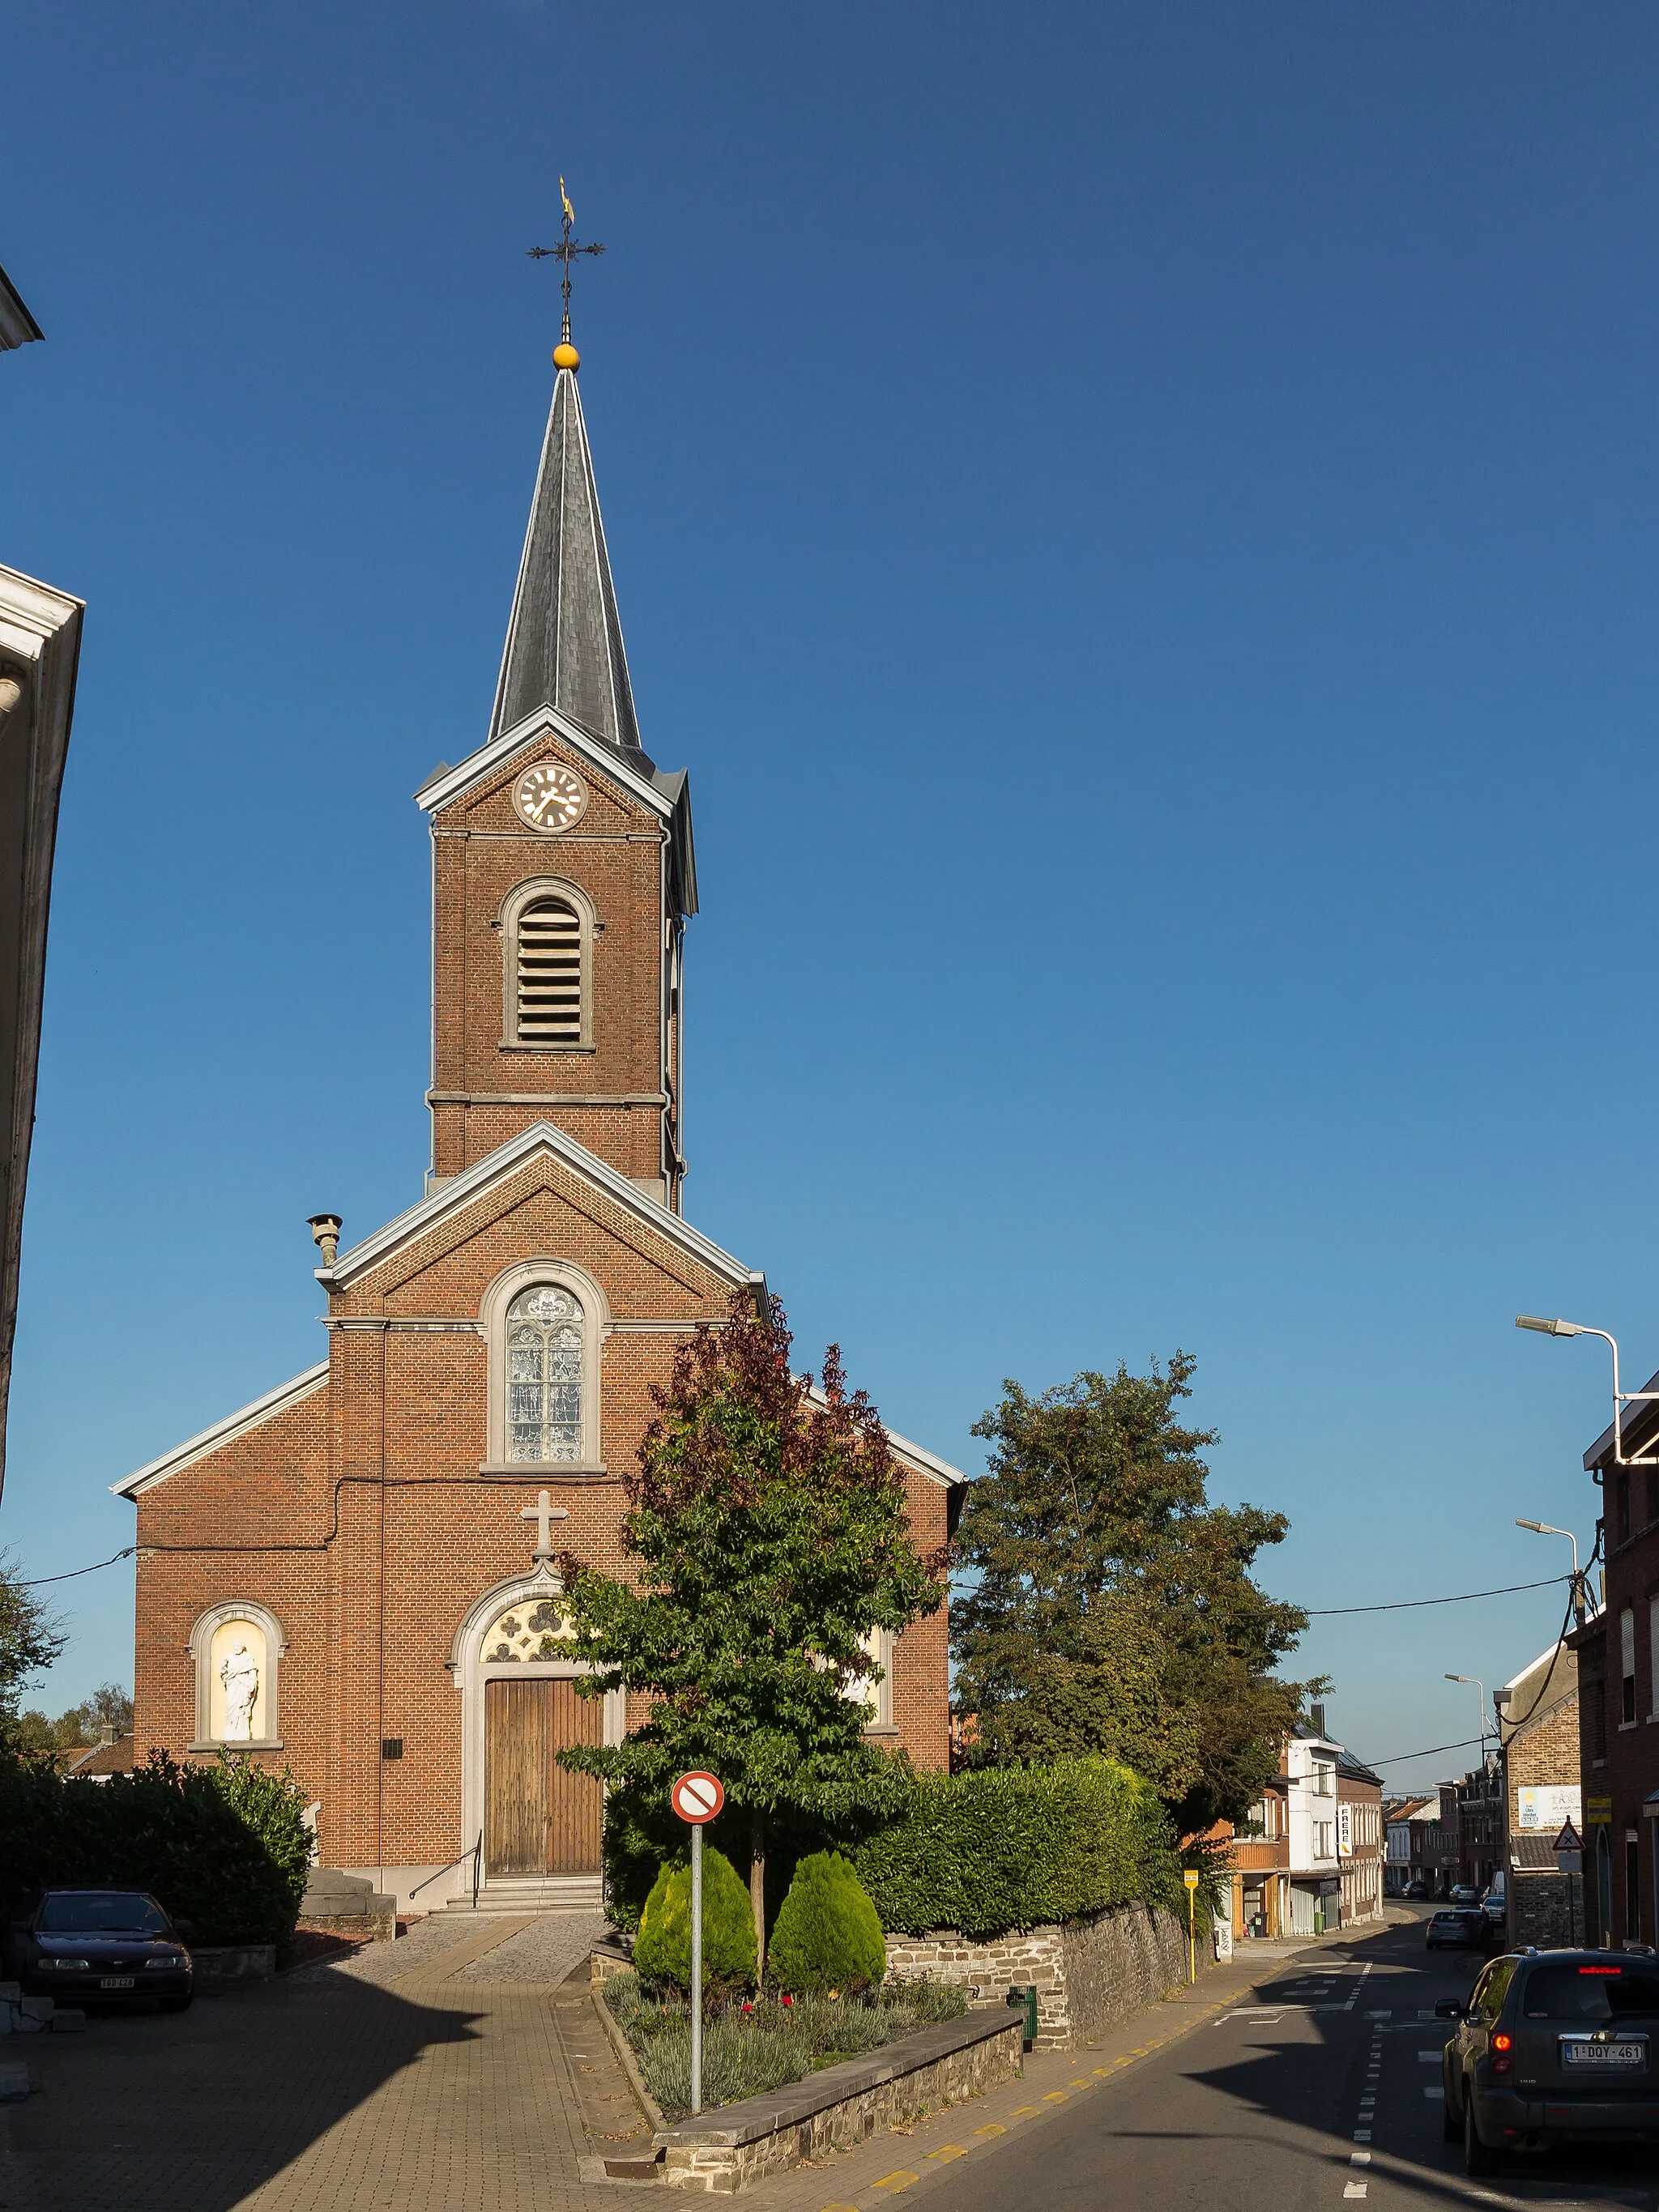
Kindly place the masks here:
POLYGON ((13 2039, 38 2095, 0 2108, 0 2208, 615 2212, 577 2159, 648 2137, 586 1984, 460 1978, 524 1927, 411 1947, 396 1982, 376 1960, 13 2039))

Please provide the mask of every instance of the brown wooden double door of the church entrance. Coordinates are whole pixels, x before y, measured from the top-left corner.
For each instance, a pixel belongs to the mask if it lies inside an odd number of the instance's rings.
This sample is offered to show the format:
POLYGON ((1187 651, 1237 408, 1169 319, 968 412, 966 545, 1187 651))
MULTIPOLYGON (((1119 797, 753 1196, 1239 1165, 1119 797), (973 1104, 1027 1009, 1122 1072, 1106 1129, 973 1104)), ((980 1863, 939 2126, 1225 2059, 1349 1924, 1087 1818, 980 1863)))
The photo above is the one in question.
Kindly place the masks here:
POLYGON ((604 1743, 604 1703, 573 1681, 484 1683, 484 1874, 597 1874, 602 1792, 555 1754, 604 1743))

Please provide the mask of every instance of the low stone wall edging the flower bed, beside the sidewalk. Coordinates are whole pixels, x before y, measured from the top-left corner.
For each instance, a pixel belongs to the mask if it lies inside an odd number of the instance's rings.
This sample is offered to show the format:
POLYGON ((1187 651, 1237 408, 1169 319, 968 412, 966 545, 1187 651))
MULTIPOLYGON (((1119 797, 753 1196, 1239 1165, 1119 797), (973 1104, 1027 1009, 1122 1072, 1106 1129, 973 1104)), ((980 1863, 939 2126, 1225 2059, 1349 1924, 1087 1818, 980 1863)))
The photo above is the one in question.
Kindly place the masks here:
POLYGON ((1020 2073, 1020 2020, 940 2020, 863 2059, 765 2097, 723 2104, 655 2137, 661 2179, 728 2197, 765 2174, 869 2141, 880 2128, 978 2097, 1020 2073))

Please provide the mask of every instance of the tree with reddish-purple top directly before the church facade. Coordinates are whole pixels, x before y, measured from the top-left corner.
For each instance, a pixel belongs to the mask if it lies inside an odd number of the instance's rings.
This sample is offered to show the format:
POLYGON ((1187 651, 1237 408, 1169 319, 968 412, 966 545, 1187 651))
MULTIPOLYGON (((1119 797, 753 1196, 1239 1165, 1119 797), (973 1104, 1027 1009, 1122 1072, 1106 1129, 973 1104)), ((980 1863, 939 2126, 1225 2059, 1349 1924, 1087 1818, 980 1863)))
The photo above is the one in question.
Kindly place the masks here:
MULTIPOLYGON (((865 1637, 945 1601, 942 1557, 911 1542, 905 1478, 832 1345, 823 1402, 790 1371, 772 1301, 732 1301, 681 1345, 626 1478, 635 1582, 571 1573, 584 1694, 626 1686, 648 1719, 619 1745, 560 1752, 611 1785, 606 1825, 650 1823, 686 1767, 710 1767, 748 1825, 750 1905, 765 1960, 770 1825, 852 1832, 902 1803, 907 1767, 865 1743, 865 1637)), ((723 1836, 737 1825, 728 1818, 723 1836)))

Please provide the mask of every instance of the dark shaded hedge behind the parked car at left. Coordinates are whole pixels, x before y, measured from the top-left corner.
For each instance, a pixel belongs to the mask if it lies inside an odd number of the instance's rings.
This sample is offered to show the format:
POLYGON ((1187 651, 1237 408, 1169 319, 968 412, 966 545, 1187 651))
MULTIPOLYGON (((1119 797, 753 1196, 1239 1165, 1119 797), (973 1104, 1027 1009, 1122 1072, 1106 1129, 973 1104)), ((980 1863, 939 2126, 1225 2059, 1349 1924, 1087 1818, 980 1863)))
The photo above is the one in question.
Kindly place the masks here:
POLYGON ((0 1752, 0 1916, 44 1885, 148 1889, 190 1942, 294 1933, 310 1865, 303 1794, 288 1774, 221 1754, 164 1752, 108 1781, 64 1781, 49 1759, 0 1752))

